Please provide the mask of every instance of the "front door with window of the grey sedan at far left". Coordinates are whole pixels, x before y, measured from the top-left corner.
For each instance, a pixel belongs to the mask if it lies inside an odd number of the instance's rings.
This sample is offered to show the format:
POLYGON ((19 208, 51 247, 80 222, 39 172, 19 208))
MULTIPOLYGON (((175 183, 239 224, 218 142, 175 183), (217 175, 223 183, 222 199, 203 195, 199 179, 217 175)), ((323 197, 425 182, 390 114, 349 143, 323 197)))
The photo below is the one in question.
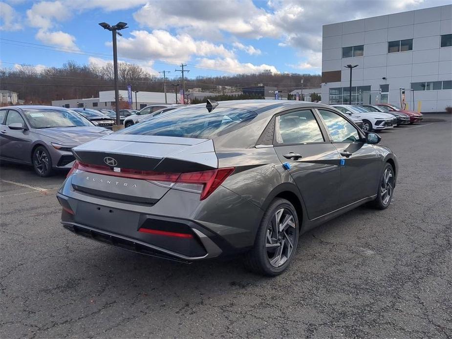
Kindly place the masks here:
POLYGON ((28 130, 21 113, 16 110, 9 109, 6 113, 5 125, 0 131, 1 138, 4 143, 1 145, 1 156, 18 161, 31 162, 30 155, 30 131, 28 130), (24 129, 11 129, 8 126, 11 124, 22 124, 24 129))

